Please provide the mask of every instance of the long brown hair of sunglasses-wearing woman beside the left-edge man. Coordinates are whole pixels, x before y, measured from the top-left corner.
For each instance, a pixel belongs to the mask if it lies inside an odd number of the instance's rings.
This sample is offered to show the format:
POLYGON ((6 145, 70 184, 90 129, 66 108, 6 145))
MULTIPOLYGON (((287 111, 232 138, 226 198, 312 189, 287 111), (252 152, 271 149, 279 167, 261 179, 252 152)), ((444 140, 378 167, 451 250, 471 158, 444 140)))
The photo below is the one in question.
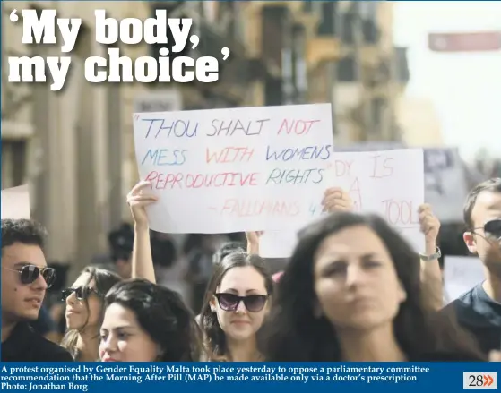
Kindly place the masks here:
MULTIPOLYGON (((91 282, 94 281, 94 287, 96 288, 96 291, 98 291, 99 294, 103 295, 106 295, 109 289, 111 289, 112 286, 117 284, 117 282, 120 282, 122 279, 120 278, 120 276, 118 276, 116 273, 112 271, 94 268, 92 266, 83 269, 82 272, 80 273, 80 276, 82 276, 82 274, 89 275, 89 278, 87 279, 87 282, 84 284, 84 286, 89 286, 91 282)), ((85 308, 89 312, 88 299, 85 299, 84 302, 85 302, 85 308)), ((101 310, 99 312, 98 330, 96 330, 96 337, 99 336, 99 329, 101 328, 102 322, 104 320, 104 312, 105 312, 104 299, 102 299, 101 310)), ((63 337, 63 339, 61 340, 61 346, 66 348, 70 352, 70 354, 73 355, 73 359, 78 359, 80 356, 80 352, 76 347, 78 336, 82 331, 82 329, 84 329, 87 326, 88 322, 89 322, 89 314, 87 315, 87 320, 85 321, 85 324, 82 326, 81 329, 71 329, 66 331, 65 337, 63 337)), ((96 355, 96 358, 97 357, 98 356, 96 355)))

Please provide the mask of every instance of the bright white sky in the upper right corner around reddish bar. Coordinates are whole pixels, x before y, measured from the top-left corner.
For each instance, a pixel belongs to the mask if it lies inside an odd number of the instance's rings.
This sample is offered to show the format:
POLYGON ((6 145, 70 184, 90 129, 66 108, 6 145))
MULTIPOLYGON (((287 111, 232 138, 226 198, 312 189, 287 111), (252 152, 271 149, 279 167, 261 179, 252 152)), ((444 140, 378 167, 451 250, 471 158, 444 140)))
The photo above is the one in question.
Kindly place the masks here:
POLYGON ((395 45, 409 47, 406 95, 433 101, 443 140, 473 159, 481 148, 501 158, 501 50, 444 54, 428 32, 501 31, 501 2, 394 2, 395 45))

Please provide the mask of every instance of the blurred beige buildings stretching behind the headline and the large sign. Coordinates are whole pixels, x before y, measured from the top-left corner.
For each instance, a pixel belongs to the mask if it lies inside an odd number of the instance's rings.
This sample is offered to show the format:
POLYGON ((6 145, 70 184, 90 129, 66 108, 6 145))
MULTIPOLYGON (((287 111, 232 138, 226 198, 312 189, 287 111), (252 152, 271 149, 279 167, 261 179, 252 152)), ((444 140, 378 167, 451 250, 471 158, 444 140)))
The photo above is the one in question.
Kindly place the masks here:
MULTIPOLYGON (((2 2, 2 188, 30 184, 32 217, 48 227, 48 258, 75 270, 107 252, 108 232, 130 221, 125 195, 138 180, 134 111, 333 103, 336 143, 394 140, 395 98, 408 79, 393 47, 391 2, 2 2), (56 9, 82 18, 65 89, 8 83, 8 56, 61 56, 56 46, 23 45, 13 9, 56 9), (83 78, 94 10, 146 19, 158 9, 188 17, 200 43, 183 55, 220 57, 216 83, 101 83, 83 78), (8 38, 8 39, 7 39, 8 38)), ((122 56, 159 56, 160 47, 120 47, 122 56)), ((403 56, 402 56, 403 54, 403 56)))

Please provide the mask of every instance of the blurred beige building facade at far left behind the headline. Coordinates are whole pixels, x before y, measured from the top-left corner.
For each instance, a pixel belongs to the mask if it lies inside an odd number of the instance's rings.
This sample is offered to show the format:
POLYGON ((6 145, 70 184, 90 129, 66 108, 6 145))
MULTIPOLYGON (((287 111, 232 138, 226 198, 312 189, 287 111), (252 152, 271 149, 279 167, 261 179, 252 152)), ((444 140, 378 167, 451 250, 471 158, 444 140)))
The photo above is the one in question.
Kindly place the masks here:
MULTIPOLYGON (((144 3, 103 2, 115 18, 146 17, 144 3)), ((127 83, 91 84, 84 79, 89 56, 104 56, 94 40, 95 3, 2 2, 2 188, 30 184, 32 218, 48 228, 50 260, 74 261, 80 269, 107 250, 107 234, 128 214, 124 195, 132 179, 134 96, 127 83), (62 56, 59 46, 23 45, 22 23, 13 9, 56 9, 58 17, 82 18, 65 87, 9 83, 8 56, 62 56)), ((144 47, 123 47, 122 56, 143 56, 144 47)))

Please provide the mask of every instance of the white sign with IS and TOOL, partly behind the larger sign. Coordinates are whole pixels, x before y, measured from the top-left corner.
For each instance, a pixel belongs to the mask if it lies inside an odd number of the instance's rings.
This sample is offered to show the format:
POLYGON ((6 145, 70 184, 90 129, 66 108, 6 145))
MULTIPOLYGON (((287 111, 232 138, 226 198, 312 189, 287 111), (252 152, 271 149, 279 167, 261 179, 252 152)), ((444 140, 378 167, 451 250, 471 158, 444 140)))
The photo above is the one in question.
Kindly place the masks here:
MULTIPOLYGON (((424 203, 423 150, 334 153, 328 186, 350 193, 354 210, 376 213, 397 228, 417 252, 424 252, 419 231, 419 205, 424 203)), ((312 208, 312 219, 324 213, 312 208)), ((260 253, 266 258, 289 257, 296 233, 265 232, 260 253)))

